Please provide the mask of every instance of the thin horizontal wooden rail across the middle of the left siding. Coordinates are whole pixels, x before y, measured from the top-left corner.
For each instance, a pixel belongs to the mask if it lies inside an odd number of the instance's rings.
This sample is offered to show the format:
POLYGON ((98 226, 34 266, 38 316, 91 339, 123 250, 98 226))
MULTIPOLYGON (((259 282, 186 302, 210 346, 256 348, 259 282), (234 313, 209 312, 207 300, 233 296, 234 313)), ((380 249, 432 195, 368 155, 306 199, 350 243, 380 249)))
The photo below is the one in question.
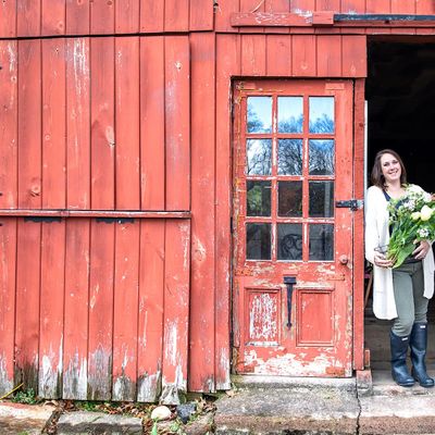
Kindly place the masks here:
POLYGON ((0 209, 3 217, 133 217, 133 219, 190 219, 189 211, 130 211, 130 210, 34 210, 0 209))

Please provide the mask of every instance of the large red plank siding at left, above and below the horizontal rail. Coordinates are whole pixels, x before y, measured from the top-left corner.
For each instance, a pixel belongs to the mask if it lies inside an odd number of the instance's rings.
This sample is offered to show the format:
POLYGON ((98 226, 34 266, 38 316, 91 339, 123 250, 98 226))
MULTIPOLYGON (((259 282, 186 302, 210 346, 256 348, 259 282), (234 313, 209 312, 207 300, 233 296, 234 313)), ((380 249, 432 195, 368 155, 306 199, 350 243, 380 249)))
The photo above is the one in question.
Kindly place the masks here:
POLYGON ((0 391, 176 402, 189 220, 7 214, 189 210, 188 37, 2 40, 0 62, 0 391))

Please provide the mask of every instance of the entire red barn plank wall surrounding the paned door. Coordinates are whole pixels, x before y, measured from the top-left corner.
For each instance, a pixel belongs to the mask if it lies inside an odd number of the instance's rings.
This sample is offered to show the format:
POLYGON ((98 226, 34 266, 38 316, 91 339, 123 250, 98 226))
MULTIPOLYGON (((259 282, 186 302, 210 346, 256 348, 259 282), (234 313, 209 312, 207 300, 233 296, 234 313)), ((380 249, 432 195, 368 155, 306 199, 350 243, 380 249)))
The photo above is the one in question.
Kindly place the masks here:
POLYGON ((0 393, 24 381, 42 397, 173 402, 229 388, 232 78, 359 79, 365 34, 433 33, 231 26, 314 10, 434 5, 1 2, 0 393))

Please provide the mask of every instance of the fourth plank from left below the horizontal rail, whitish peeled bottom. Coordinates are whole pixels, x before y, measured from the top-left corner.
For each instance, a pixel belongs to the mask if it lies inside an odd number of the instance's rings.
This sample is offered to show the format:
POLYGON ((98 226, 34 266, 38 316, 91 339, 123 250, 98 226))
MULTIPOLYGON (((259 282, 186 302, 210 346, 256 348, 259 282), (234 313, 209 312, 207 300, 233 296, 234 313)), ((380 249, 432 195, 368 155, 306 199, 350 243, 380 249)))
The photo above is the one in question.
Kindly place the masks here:
POLYGON ((62 395, 64 399, 87 399, 89 237, 89 220, 73 217, 66 220, 62 395))

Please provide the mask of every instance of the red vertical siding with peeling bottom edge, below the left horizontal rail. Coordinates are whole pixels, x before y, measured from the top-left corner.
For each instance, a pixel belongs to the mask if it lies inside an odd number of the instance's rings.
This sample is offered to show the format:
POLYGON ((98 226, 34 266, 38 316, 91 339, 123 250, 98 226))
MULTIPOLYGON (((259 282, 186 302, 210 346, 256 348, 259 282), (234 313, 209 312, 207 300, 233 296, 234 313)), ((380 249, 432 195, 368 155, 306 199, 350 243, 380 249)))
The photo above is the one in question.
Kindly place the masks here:
POLYGON ((175 403, 187 388, 189 221, 0 224, 0 391, 24 382, 47 398, 162 391, 175 403))

